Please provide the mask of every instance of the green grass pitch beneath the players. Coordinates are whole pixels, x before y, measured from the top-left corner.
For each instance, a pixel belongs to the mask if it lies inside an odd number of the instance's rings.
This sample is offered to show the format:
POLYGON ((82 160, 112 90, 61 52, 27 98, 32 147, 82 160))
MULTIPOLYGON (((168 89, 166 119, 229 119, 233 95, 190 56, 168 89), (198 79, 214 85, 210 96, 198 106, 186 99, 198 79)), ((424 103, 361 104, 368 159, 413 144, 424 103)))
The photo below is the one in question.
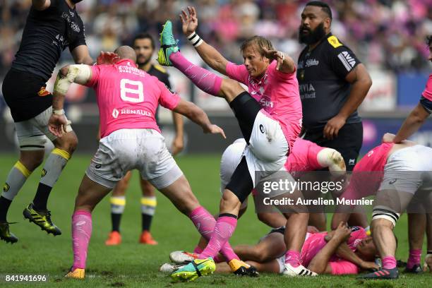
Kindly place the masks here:
MULTIPOLYGON (((93 212, 93 232, 88 252, 86 279, 67 280, 63 277, 72 264, 71 215, 78 186, 90 162, 91 155, 74 155, 64 169, 49 198, 52 220, 63 231, 61 236, 47 235, 35 224, 23 220, 23 209, 35 195, 40 171, 28 179, 11 205, 8 221, 11 231, 20 239, 17 244, 0 242, 0 287, 6 275, 47 275, 48 282, 37 286, 48 287, 432 287, 432 275, 412 276, 401 273, 400 279, 385 282, 363 282, 354 276, 316 278, 287 278, 262 273, 260 277, 212 275, 191 283, 172 283, 167 275, 158 272, 159 266, 169 261, 169 252, 192 250, 198 240, 193 224, 181 215, 162 195, 152 222, 152 234, 157 246, 138 244, 140 235, 140 191, 138 173, 134 172, 126 196, 126 210, 121 221, 123 243, 105 246, 104 240, 111 224, 109 198, 105 198, 93 212)), ((200 203, 210 212, 219 207, 220 155, 193 155, 177 159, 179 166, 191 183, 200 203)), ((0 155, 0 181, 6 179, 8 170, 16 162, 16 155, 0 155)), ((254 244, 269 230, 260 223, 253 208, 241 218, 232 237, 232 245, 254 244)), ((397 258, 407 259, 407 218, 402 217, 396 227, 399 238, 397 258)), ((424 251, 426 251, 424 249, 424 251)), ((35 284, 35 283, 33 283, 35 284)), ((11 287, 29 287, 29 283, 14 283, 11 287)))

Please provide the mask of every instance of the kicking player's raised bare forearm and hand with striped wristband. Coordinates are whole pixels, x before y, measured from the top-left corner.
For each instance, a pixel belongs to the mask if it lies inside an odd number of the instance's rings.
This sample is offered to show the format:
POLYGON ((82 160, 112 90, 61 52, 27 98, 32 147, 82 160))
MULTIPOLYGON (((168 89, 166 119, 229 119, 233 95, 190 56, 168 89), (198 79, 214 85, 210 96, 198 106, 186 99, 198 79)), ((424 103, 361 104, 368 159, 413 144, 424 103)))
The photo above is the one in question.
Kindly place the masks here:
POLYGON ((214 47, 204 42, 198 34, 196 28, 198 27, 198 16, 195 7, 188 6, 187 11, 182 10, 180 14, 181 28, 184 35, 193 44, 196 51, 204 62, 215 69, 217 72, 227 76, 228 60, 222 56, 214 47))

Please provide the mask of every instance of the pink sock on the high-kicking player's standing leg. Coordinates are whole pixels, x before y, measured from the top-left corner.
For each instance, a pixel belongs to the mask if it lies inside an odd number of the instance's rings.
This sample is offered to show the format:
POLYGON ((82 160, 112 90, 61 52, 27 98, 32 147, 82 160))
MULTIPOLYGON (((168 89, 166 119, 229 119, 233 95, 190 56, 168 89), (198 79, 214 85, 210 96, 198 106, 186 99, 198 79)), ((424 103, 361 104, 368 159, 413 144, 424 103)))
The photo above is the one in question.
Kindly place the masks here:
MULTIPOLYGON (((217 218, 215 230, 212 233, 212 238, 208 241, 207 247, 205 247, 203 253, 200 253, 198 258, 215 258, 217 253, 221 250, 222 246, 227 243, 231 238, 234 230, 236 229, 237 219, 229 216, 222 216, 217 218)), ((233 252, 234 253, 234 252, 233 252)), ((229 262, 231 259, 227 258, 229 262)))

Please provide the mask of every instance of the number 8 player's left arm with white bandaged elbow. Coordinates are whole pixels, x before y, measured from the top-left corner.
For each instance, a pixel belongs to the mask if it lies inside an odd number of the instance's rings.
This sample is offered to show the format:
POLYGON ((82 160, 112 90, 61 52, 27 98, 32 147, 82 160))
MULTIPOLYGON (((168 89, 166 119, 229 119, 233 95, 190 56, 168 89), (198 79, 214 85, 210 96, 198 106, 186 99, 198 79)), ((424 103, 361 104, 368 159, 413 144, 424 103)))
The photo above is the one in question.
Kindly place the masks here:
POLYGON ((66 117, 64 116, 64 97, 72 83, 84 85, 92 76, 92 70, 87 65, 68 65, 60 69, 54 83, 52 98, 52 116, 48 128, 57 137, 66 133, 66 117))

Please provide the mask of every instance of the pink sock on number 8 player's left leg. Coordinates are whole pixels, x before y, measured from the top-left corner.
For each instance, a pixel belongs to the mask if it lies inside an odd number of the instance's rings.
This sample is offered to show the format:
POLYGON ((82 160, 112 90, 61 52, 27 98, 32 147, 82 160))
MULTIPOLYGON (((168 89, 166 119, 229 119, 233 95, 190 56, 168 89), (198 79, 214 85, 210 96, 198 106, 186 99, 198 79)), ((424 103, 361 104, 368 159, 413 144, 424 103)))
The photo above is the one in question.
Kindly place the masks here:
POLYGON ((90 236, 92 236, 92 215, 87 211, 76 211, 72 215, 72 270, 85 269, 90 236))

